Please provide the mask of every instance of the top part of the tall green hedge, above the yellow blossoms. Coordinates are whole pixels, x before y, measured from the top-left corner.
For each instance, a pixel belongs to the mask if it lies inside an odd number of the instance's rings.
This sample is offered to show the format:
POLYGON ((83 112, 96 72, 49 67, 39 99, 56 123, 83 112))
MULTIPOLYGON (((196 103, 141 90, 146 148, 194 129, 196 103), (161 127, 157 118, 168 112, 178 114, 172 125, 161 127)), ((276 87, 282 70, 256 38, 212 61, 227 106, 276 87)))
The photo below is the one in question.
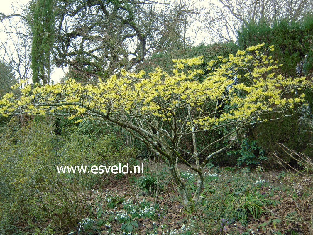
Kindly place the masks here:
POLYGON ((304 76, 313 71, 312 46, 310 39, 313 34, 313 17, 300 21, 282 19, 273 25, 265 22, 251 22, 238 31, 237 43, 242 49, 265 42, 275 45, 270 53, 283 64, 279 71, 286 76, 304 76))

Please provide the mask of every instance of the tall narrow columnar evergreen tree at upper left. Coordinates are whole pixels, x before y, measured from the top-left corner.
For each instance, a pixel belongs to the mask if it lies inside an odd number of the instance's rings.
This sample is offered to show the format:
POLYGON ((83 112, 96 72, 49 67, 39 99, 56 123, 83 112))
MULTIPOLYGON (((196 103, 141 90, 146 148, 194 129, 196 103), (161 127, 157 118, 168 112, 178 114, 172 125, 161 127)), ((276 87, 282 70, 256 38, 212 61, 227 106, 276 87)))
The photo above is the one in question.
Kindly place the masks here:
POLYGON ((50 82, 51 48, 54 43, 54 0, 37 0, 33 12, 32 70, 33 83, 50 82))

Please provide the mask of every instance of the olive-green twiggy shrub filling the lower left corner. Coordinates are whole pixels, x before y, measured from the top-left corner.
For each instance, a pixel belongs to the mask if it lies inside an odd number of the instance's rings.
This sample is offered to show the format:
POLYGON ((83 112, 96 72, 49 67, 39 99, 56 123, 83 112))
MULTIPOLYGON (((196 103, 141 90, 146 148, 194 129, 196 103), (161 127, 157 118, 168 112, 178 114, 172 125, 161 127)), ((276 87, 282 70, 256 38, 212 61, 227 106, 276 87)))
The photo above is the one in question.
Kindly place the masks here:
POLYGON ((49 125, 36 122, 19 128, 16 118, 2 129, 1 213, 10 216, 4 217, 1 227, 14 226, 16 220, 29 223, 29 227, 34 226, 33 220, 52 220, 61 227, 67 226, 67 220, 74 222, 69 215, 81 199, 75 195, 75 185, 67 184, 66 178, 55 178, 55 169, 49 167, 56 161, 51 131, 49 125))

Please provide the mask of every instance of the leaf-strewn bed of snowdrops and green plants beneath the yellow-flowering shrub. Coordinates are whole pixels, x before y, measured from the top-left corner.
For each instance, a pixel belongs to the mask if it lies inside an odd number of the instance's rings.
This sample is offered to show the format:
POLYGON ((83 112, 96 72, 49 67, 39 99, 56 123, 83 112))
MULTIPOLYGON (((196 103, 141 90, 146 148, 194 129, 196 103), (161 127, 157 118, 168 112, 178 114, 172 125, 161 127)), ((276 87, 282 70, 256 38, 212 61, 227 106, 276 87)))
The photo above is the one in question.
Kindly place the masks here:
MULTIPOLYGON (((150 170, 154 167, 155 163, 150 162, 150 170)), ((167 168, 164 164, 159 167, 167 168)), ((169 174, 168 170, 163 172, 164 176, 169 174)), ((187 169, 182 174, 190 190, 195 191, 197 175, 187 169)), ((282 179, 288 180, 289 175, 280 180, 264 176, 260 172, 219 167, 206 170, 201 204, 184 205, 172 180, 164 182, 166 189, 155 203, 155 195, 139 192, 140 184, 130 185, 125 177, 109 175, 111 184, 94 186, 90 193, 92 205, 75 226, 63 231, 64 234, 302 234, 302 222, 294 221, 297 215, 290 211, 290 202, 299 203, 301 196, 280 183, 282 179), (132 191, 139 193, 133 195, 132 191), (286 209, 288 215, 293 215, 292 221, 288 221, 287 214, 286 221, 279 216, 286 209)), ((140 181, 140 177, 133 176, 133 180, 140 181)), ((50 226, 49 232, 61 232, 50 226)), ((31 227, 28 229, 24 233, 32 231, 31 227)))

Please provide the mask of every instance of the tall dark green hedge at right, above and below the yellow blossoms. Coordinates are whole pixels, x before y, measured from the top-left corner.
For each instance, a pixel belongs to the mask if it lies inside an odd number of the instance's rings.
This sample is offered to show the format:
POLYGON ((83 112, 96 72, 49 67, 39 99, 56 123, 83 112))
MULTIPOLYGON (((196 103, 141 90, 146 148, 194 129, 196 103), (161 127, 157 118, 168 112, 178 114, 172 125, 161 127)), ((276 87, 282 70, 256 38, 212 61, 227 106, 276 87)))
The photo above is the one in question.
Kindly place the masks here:
MULTIPOLYGON (((283 76, 307 76, 310 79, 310 73, 313 72, 312 35, 313 17, 309 15, 297 21, 282 19, 272 25, 264 22, 250 23, 238 31, 237 43, 242 49, 261 42, 275 45, 275 50, 269 52, 269 55, 282 64, 275 71, 283 76)), ((248 137, 256 139, 266 153, 278 152, 285 156, 285 160, 290 158, 275 142, 283 143, 298 152, 312 154, 310 143, 313 136, 307 129, 313 117, 313 93, 309 89, 297 92, 305 92, 309 107, 303 107, 292 117, 261 123, 247 130, 248 137)), ((278 115, 268 115, 268 119, 277 117, 278 115)), ((273 166, 272 163, 269 161, 269 165, 273 166)))

